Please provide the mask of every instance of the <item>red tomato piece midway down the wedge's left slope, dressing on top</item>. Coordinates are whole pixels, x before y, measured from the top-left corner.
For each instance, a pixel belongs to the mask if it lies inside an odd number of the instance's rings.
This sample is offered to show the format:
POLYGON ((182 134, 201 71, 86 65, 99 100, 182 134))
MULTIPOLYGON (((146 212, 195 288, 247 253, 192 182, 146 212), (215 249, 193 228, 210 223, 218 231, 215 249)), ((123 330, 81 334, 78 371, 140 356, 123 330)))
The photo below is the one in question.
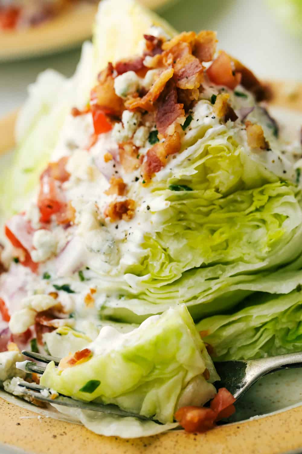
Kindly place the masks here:
POLYGON ((38 196, 38 208, 41 213, 40 221, 49 222, 52 215, 58 213, 62 207, 64 207, 64 201, 56 186, 56 181, 44 174, 41 179, 38 196))

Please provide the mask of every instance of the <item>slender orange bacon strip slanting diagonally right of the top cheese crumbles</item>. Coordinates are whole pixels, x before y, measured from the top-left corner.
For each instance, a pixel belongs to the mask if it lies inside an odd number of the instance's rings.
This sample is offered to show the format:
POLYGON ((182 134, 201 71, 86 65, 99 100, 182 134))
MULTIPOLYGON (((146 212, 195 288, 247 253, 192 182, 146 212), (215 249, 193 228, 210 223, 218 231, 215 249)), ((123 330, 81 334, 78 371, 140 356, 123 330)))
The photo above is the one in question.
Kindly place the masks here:
POLYGON ((168 80, 173 77, 173 74, 173 68, 164 69, 155 80, 149 92, 143 98, 129 97, 125 102, 125 107, 129 110, 141 109, 151 112, 154 109, 153 103, 158 99, 168 80))

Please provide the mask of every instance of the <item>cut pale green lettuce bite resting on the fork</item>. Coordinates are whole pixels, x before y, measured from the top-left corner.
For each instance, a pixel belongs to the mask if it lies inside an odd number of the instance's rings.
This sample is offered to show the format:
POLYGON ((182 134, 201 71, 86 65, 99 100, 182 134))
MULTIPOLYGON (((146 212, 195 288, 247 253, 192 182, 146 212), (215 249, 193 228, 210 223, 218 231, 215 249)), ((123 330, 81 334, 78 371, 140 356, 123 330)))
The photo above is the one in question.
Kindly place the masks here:
POLYGON ((87 348, 92 357, 73 367, 57 369, 49 363, 41 385, 162 423, 173 422, 180 398, 187 402, 183 394, 192 380, 198 378, 199 405, 216 393, 211 383, 219 377, 185 305, 150 317, 127 334, 104 327, 87 348), (208 381, 202 375, 206 369, 208 381))

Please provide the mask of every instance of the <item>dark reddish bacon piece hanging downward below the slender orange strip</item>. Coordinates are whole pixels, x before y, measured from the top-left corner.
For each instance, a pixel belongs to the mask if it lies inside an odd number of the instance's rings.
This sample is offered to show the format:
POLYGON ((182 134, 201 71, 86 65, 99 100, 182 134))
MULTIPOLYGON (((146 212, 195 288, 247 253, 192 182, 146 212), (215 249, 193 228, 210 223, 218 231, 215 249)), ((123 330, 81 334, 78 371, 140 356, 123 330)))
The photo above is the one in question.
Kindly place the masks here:
POLYGON ((169 81, 158 99, 156 112, 156 126, 158 132, 164 134, 167 128, 173 124, 177 118, 181 121, 184 116, 185 111, 183 110, 183 104, 177 103, 175 83, 169 81))

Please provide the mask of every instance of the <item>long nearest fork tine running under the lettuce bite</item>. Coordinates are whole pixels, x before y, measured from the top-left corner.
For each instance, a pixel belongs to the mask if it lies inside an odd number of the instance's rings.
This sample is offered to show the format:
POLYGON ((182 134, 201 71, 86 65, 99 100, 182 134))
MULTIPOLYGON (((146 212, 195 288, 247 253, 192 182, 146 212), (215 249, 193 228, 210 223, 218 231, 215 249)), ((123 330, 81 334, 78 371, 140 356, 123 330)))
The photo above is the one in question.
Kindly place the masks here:
POLYGON ((141 420, 152 420, 157 424, 162 424, 156 419, 148 418, 147 416, 144 415, 137 415, 125 410, 121 410, 117 405, 111 404, 104 405, 95 402, 85 402, 82 400, 72 399, 72 397, 67 397, 63 395, 58 395, 58 397, 56 397, 55 399, 51 399, 51 397, 45 397, 44 395, 41 394, 42 390, 49 391, 49 389, 44 386, 36 385, 35 383, 27 383, 26 381, 22 381, 19 383, 19 386, 24 388, 24 390, 22 391, 23 394, 34 397, 37 400, 42 400, 43 402, 48 402, 50 404, 64 405, 65 407, 79 408, 81 410, 99 411, 101 413, 111 415, 131 416, 141 420))

